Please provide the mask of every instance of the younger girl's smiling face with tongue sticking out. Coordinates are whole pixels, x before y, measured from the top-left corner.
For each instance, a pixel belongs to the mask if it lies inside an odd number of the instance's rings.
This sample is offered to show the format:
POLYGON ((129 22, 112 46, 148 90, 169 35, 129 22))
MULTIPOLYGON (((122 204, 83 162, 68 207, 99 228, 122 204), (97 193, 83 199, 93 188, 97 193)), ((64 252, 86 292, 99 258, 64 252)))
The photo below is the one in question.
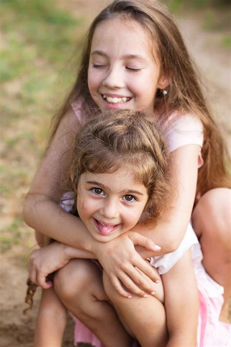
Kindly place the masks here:
POLYGON ((98 242, 108 242, 133 228, 148 201, 147 188, 126 169, 85 172, 77 187, 79 217, 98 242))

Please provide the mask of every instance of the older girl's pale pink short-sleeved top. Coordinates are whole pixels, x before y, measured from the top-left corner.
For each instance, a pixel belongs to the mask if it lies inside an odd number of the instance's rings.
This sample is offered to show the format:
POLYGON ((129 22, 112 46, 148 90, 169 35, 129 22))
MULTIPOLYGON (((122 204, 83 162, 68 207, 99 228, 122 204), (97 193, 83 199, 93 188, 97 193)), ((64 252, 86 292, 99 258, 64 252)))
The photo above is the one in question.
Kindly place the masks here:
MULTIPOLYGON (((81 101, 71 104, 73 111, 80 123, 83 123, 81 113, 81 101)), ((186 144, 198 144, 198 168, 204 163, 201 155, 203 145, 203 125, 201 121, 192 114, 177 116, 173 113, 163 126, 169 151, 185 146, 186 144)))

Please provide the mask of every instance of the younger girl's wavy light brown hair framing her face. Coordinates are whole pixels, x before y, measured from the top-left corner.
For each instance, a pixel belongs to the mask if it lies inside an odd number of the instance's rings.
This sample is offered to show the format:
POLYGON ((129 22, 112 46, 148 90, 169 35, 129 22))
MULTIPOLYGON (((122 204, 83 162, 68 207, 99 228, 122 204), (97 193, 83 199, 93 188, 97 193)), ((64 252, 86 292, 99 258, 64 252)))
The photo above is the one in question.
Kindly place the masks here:
MULTIPOLYGON (((82 173, 113 173, 125 168, 147 187, 149 199, 142 222, 153 224, 170 201, 169 166, 167 145, 153 120, 142 112, 110 110, 98 114, 77 133, 62 191, 73 192, 68 193, 68 199, 75 202, 72 213, 77 215, 77 186, 82 173)), ((64 196, 60 202, 67 200, 64 196)), ((25 301, 29 308, 35 286, 28 282, 25 301)))

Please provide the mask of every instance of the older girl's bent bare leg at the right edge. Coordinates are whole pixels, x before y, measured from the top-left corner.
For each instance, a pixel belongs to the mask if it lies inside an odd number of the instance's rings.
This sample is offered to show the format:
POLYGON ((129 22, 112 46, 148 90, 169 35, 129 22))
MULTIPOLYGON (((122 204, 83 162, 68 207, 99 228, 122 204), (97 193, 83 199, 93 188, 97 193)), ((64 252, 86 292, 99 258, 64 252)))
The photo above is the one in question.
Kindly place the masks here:
POLYGON ((204 194, 193 210, 193 228, 200 241, 203 265, 214 281, 224 287, 220 320, 228 322, 231 295, 231 191, 216 188, 204 194))

